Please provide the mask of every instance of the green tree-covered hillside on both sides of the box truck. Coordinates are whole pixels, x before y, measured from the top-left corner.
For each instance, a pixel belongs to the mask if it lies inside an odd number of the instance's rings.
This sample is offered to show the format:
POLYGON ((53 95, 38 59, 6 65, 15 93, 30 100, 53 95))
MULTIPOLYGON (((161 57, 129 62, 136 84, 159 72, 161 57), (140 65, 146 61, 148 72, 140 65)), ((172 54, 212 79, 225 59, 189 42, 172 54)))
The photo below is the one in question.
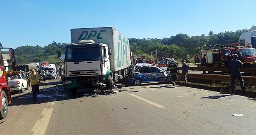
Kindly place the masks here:
MULTIPOLYGON (((251 29, 237 30, 236 32, 225 31, 218 34, 214 34, 210 31, 208 35, 192 36, 189 37, 187 34, 177 34, 169 38, 164 37, 163 39, 148 38, 148 39, 136 39, 130 38, 130 51, 133 54, 151 54, 153 58, 156 58, 156 49, 158 57, 161 59, 171 56, 175 59, 182 59, 190 55, 193 57, 194 54, 199 54, 201 45, 212 45, 212 44, 229 44, 238 42, 241 33, 246 31, 256 30, 256 26, 251 26, 251 29)), ((67 43, 57 43, 53 41, 51 44, 45 47, 40 46, 21 46, 15 49, 16 58, 18 64, 26 63, 38 63, 39 61, 48 61, 49 63, 61 63, 57 57, 57 50, 61 50, 64 54, 64 48, 67 43)))

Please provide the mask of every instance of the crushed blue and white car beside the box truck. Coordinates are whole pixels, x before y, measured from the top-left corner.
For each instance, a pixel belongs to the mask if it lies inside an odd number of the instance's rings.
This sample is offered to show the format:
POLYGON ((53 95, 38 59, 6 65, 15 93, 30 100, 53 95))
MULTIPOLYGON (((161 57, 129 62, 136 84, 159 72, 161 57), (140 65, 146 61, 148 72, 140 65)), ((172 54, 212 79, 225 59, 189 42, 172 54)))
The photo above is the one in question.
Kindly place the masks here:
POLYGON ((166 72, 152 64, 137 63, 133 66, 124 84, 140 86, 147 82, 169 82, 166 72))

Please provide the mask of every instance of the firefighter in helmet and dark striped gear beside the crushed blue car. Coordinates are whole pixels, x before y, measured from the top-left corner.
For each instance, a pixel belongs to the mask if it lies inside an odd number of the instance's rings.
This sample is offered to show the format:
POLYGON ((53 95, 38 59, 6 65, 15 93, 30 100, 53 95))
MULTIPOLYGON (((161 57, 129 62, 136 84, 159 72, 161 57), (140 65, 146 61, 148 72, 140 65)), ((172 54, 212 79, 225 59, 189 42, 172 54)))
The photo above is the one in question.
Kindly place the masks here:
POLYGON ((178 72, 180 72, 179 70, 179 66, 177 65, 176 61, 173 59, 171 61, 171 63, 168 65, 168 68, 167 68, 167 72, 170 70, 170 73, 171 73, 171 79, 172 79, 172 84, 173 86, 176 85, 175 82, 177 81, 178 79, 178 72))

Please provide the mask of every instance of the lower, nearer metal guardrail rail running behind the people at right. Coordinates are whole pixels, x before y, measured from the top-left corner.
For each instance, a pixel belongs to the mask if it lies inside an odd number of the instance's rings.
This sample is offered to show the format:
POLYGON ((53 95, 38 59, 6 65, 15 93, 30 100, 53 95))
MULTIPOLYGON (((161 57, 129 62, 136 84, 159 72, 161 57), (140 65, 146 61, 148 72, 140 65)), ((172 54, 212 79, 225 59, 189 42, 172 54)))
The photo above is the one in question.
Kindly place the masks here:
MULTIPOLYGON (((182 73, 178 74, 179 77, 182 77, 182 73)), ((229 75, 219 75, 219 74, 190 74, 187 73, 187 78, 194 79, 207 79, 207 80, 216 80, 216 81, 231 81, 229 75)), ((244 83, 256 84, 256 77, 247 77, 243 76, 244 83)))

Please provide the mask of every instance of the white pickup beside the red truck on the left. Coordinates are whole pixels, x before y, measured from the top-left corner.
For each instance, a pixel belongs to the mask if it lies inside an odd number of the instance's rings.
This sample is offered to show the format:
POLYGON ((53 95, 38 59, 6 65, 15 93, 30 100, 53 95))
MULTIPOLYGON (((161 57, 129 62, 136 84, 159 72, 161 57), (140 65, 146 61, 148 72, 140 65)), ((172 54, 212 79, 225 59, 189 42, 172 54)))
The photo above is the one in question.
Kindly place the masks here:
POLYGON ((28 80, 18 71, 7 72, 7 83, 11 91, 23 93, 24 90, 28 90, 28 80))

